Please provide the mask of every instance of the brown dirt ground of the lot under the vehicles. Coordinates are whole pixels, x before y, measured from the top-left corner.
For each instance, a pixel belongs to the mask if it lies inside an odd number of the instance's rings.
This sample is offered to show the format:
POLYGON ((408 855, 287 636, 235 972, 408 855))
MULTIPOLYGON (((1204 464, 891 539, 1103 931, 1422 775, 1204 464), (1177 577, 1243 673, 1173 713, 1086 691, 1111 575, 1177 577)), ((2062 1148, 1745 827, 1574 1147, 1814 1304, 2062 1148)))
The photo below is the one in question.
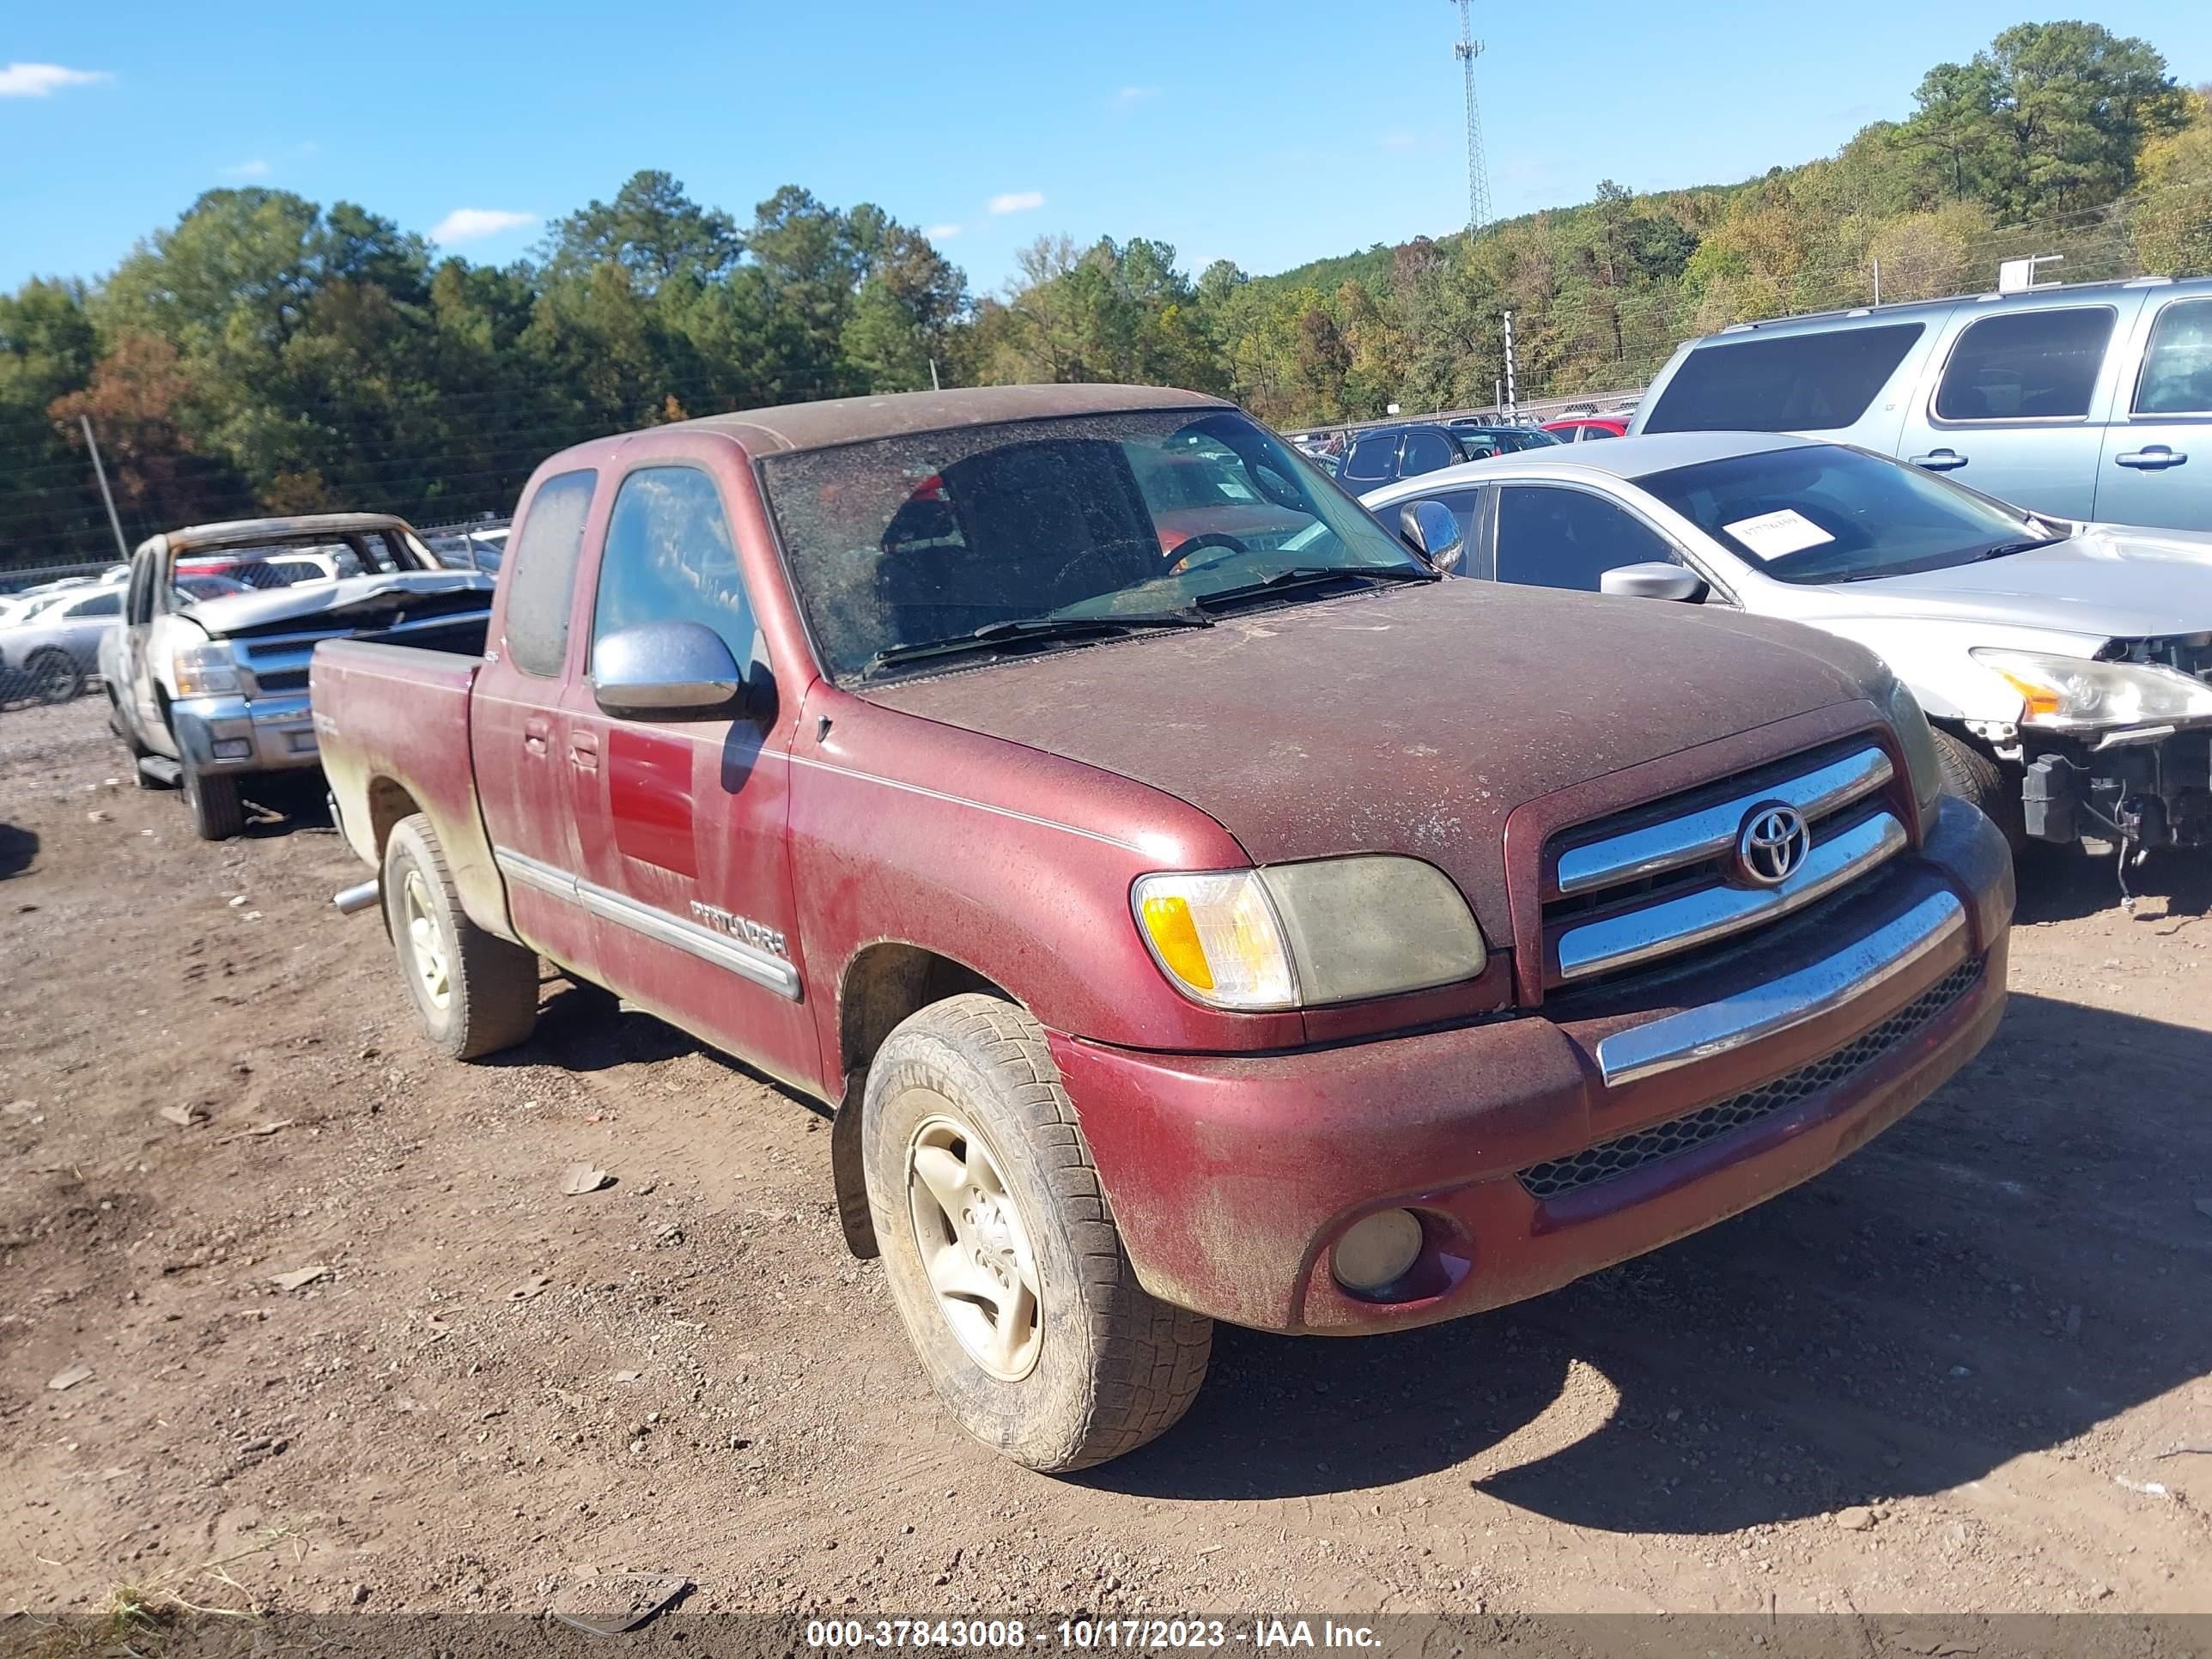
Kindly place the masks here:
POLYGON ((0 714, 0 1615, 2212 1610, 2203 860, 2028 869, 2000 1037, 1827 1177, 1500 1314, 1223 1329, 1046 1480, 936 1407, 814 1108, 553 978, 436 1057, 279 805, 201 845, 95 699, 0 714))

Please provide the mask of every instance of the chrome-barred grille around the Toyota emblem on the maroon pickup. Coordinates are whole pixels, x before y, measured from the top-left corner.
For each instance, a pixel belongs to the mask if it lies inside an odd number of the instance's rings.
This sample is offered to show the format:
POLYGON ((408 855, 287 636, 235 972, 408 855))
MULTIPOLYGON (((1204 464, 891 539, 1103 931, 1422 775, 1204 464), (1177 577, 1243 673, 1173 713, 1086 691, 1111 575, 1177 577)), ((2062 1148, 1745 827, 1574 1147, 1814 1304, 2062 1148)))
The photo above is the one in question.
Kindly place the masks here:
POLYGON ((1571 832, 1544 905, 1548 982, 1655 964, 1849 887, 1909 845, 1891 781, 1889 754, 1860 741, 1571 832), (1739 880, 1743 821, 1776 801, 1803 814, 1812 849, 1781 885, 1739 880))

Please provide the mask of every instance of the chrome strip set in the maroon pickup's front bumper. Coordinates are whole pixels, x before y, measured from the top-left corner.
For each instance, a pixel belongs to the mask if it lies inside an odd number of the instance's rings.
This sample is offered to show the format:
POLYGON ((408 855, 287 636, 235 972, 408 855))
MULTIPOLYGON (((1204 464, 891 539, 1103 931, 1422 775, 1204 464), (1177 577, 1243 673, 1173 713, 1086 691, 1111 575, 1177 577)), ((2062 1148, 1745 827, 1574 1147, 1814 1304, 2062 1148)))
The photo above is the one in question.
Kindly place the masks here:
POLYGON ((1686 1009, 1644 1026, 1615 1031, 1597 1044, 1597 1071, 1606 1086, 1615 1088, 1820 1020, 1920 962, 1962 933, 1964 927, 1966 907, 1958 902, 1955 894, 1922 898, 1849 949, 1807 969, 1785 973, 1754 991, 1708 1002, 1703 1009, 1686 1009))

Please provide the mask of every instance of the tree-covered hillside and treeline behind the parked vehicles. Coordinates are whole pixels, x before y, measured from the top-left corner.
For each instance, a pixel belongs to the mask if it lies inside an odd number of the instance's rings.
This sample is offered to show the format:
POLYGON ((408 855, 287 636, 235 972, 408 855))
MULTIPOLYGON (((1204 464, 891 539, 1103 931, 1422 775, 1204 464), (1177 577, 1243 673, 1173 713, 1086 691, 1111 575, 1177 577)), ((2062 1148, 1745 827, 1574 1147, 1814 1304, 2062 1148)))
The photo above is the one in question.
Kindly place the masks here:
POLYGON ((1166 243, 1046 237, 973 296, 880 208, 799 186, 750 219, 639 173, 533 257, 476 265, 354 204, 210 190, 97 281, 0 296, 0 566, 257 511, 507 511, 577 438, 761 403, 1139 380, 1279 425, 1641 385, 1677 341, 1922 299, 2064 254, 2068 281, 2212 272, 2212 97, 2099 24, 2020 24, 1938 64, 1902 119, 1734 184, 1511 219, 1469 241, 1248 276, 1166 243))

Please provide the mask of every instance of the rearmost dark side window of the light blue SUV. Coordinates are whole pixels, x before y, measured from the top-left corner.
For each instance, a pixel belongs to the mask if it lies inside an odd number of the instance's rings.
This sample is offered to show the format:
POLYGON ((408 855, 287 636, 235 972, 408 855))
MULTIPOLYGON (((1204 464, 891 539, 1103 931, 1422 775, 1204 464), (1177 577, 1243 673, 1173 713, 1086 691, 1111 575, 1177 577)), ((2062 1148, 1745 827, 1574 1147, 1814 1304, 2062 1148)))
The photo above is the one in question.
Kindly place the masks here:
POLYGON ((1697 345, 1644 431, 1840 431, 1867 414, 1922 334, 1927 323, 1869 323, 1697 345))

